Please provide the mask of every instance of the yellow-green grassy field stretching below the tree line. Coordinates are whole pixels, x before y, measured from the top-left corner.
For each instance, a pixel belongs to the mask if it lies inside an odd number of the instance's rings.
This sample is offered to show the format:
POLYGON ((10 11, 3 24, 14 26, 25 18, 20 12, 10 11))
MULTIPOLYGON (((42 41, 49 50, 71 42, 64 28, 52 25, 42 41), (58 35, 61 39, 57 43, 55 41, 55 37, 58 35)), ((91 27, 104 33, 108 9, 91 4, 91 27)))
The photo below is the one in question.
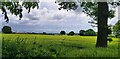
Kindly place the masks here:
POLYGON ((2 39, 3 57, 118 57, 117 38, 108 48, 95 48, 96 36, 2 34, 2 39))

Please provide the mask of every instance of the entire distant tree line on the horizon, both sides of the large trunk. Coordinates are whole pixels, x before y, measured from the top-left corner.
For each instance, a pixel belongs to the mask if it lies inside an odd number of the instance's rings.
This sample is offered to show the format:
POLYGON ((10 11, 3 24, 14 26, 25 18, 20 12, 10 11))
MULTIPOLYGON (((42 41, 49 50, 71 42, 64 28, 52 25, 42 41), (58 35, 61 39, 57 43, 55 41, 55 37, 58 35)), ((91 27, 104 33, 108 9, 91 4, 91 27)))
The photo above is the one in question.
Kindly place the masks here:
MULTIPOLYGON (((120 34, 120 20, 113 26, 113 32, 116 34, 116 37, 119 36, 120 34)), ((80 35, 80 36, 96 36, 97 32, 95 32, 93 29, 88 29, 88 30, 80 30, 79 33, 75 33, 74 31, 70 31, 69 33, 66 33, 66 31, 62 30, 60 33, 35 33, 35 32, 26 32, 26 33, 16 33, 12 31, 12 28, 10 26, 4 26, 2 28, 2 33, 5 34, 43 34, 43 35, 68 35, 68 36, 73 36, 73 35, 80 35)), ((112 28, 109 26, 108 28, 108 34, 112 33, 112 28)))

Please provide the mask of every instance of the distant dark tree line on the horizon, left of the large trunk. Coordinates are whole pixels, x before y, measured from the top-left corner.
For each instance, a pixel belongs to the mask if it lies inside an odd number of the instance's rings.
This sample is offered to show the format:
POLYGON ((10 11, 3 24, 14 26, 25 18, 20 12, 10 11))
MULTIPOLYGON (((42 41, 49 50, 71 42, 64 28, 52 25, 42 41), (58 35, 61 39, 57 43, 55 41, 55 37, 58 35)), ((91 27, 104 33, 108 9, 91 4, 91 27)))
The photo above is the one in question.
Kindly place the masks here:
MULTIPOLYGON (((12 33, 16 33, 16 32, 13 32, 12 31, 12 28, 10 26, 4 26, 2 28, 2 33, 4 34, 12 34, 12 33)), ((16 33, 17 34, 17 33, 16 33)), ((22 34, 22 33, 18 33, 18 34, 22 34)), ((46 33, 46 32, 43 32, 43 33, 35 33, 35 32, 26 32, 26 33, 23 33, 23 34, 44 34, 44 35, 54 35, 54 34, 59 34, 59 35, 70 35, 70 36, 73 36, 73 35, 81 35, 81 36, 95 36, 96 35, 96 32, 92 29, 88 29, 88 30, 80 30, 79 33, 75 33, 74 31, 70 31, 69 33, 66 33, 64 30, 63 31, 60 31, 60 33, 46 33)))

